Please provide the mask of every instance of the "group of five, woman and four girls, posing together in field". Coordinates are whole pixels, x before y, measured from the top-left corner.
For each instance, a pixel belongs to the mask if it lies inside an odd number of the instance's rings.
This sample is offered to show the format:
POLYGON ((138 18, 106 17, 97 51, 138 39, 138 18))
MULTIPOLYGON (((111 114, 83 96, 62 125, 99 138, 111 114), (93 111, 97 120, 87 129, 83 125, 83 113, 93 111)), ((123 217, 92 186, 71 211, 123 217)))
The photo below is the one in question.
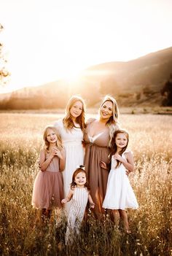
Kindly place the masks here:
POLYGON ((126 208, 138 207, 128 179, 134 163, 128 132, 120 128, 118 116, 117 101, 106 96, 98 118, 85 122, 85 102, 72 96, 63 119, 44 130, 32 205, 50 217, 52 207, 65 204, 66 243, 71 233, 79 233, 87 201, 98 220, 111 209, 115 225, 122 217, 130 232, 126 208))

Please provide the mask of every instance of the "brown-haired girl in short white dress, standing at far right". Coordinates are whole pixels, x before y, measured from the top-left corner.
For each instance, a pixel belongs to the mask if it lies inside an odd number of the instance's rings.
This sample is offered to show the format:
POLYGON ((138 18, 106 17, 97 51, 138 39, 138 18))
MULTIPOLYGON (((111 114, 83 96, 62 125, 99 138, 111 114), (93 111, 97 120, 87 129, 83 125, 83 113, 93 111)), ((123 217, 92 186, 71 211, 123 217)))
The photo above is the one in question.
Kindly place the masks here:
MULTIPOLYGON (((128 215, 125 209, 136 209, 138 208, 138 203, 126 174, 126 169, 129 172, 134 169, 133 154, 130 150, 127 150, 128 139, 127 131, 118 130, 114 132, 110 154, 112 165, 103 208, 112 209, 114 222, 117 226, 119 225, 120 217, 122 217, 125 231, 130 233, 128 215)), ((101 167, 106 168, 106 163, 101 162, 100 164, 101 167)))

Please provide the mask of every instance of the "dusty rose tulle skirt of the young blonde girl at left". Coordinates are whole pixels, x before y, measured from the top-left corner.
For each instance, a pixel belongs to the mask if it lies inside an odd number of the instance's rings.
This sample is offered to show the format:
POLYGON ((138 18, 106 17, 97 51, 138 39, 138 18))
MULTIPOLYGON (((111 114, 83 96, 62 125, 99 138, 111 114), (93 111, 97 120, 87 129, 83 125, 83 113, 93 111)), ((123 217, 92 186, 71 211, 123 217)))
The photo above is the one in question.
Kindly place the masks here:
POLYGON ((34 181, 31 204, 37 209, 62 207, 63 176, 59 171, 39 171, 34 181))

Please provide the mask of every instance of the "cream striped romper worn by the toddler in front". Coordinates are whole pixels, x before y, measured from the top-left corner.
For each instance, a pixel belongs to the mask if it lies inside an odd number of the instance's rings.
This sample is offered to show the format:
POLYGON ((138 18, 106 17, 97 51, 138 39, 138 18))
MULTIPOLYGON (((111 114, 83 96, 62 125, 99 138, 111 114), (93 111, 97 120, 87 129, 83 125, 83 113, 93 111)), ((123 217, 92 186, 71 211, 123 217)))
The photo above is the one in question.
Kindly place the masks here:
POLYGON ((79 234, 79 228, 85 215, 88 201, 88 190, 86 187, 75 187, 69 210, 68 225, 66 229, 66 244, 73 241, 74 235, 79 234))

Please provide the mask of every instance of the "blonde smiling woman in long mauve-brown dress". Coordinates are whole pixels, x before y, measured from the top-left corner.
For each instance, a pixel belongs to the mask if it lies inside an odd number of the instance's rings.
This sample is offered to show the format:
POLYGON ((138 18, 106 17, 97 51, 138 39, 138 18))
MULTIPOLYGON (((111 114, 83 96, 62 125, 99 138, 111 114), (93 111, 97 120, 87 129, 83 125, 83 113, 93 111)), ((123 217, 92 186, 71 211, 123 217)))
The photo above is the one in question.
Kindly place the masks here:
POLYGON ((109 144, 114 131, 120 128, 118 115, 117 101, 111 96, 105 96, 98 119, 88 120, 85 129, 85 171, 90 183, 90 195, 95 203, 93 212, 98 219, 104 213, 102 204, 109 175, 109 171, 101 168, 100 163, 109 162, 109 144))

